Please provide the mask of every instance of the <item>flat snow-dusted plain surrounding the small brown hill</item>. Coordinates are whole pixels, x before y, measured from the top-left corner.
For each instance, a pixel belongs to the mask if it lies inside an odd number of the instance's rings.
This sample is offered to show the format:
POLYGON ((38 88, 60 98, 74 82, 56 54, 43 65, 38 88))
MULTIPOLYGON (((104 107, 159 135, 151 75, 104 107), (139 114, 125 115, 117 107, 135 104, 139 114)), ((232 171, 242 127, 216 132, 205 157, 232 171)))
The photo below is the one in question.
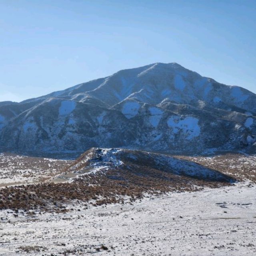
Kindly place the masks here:
MULTIPOLYGON (((106 165, 108 154, 102 152, 101 161, 106 165)), ((204 186, 196 192, 146 195, 124 204, 93 206, 73 200, 66 204, 68 211, 64 213, 0 210, 0 255, 256 255, 256 157, 226 154, 180 158, 240 182, 220 188, 204 186)), ((117 159, 112 155, 111 159, 115 165, 117 159)), ((83 166, 83 159, 78 163, 83 166)), ((0 187, 1 182, 2 187, 44 182, 65 168, 69 170, 69 164, 0 154, 0 187)))

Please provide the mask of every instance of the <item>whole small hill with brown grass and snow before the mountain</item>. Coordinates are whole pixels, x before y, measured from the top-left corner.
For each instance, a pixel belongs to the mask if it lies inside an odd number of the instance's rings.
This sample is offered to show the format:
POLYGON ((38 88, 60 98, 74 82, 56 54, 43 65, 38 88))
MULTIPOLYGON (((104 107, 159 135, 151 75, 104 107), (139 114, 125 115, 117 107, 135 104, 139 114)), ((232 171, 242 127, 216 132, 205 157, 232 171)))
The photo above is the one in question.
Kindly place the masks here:
POLYGON ((0 190, 0 209, 70 210, 70 204, 132 203, 167 192, 228 186, 235 180, 188 160, 138 150, 92 148, 46 182, 0 190))

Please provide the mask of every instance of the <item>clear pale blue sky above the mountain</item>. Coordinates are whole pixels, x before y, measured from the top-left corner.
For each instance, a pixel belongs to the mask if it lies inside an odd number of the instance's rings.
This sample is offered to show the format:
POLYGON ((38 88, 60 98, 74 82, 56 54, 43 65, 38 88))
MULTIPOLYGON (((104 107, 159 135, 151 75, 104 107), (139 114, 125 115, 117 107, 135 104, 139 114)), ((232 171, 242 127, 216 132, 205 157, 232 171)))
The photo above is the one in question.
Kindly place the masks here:
POLYGON ((256 93, 256 0, 0 0, 0 101, 154 62, 256 93))

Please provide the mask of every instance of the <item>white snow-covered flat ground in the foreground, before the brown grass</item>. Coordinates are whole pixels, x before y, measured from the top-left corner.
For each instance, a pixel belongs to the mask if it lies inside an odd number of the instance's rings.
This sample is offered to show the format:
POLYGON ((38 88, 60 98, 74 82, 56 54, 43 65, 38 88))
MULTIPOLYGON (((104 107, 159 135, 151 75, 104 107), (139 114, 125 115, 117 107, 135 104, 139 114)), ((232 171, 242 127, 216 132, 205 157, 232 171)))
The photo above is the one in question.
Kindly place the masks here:
POLYGON ((16 218, 5 210, 0 217, 5 256, 256 255, 256 186, 249 182, 133 204, 74 206, 66 214, 16 218))

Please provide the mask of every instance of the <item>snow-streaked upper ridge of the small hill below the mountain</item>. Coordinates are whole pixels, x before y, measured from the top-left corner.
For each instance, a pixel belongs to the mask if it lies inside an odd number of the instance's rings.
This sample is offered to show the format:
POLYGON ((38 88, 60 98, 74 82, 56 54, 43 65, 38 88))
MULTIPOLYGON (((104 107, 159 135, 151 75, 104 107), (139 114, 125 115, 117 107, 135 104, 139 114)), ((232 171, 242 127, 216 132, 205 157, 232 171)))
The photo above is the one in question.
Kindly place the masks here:
MULTIPOLYGON (((72 162, 65 169, 65 174, 68 177, 70 177, 69 174, 72 174, 71 177, 78 177, 84 174, 106 173, 108 170, 116 170, 115 179, 120 179, 122 176, 121 170, 127 174, 135 173, 139 175, 142 175, 143 172, 150 173, 150 170, 154 170, 156 177, 159 174, 161 176, 162 172, 167 172, 208 182, 234 183, 236 181, 221 172, 188 160, 165 154, 121 148, 91 148, 72 162), (156 171, 160 171, 160 173, 156 174, 156 171)), ((60 177, 63 177, 63 174, 60 174, 60 177)), ((58 182, 60 181, 59 179, 58 177, 58 182)), ((66 182, 67 180, 64 178, 62 182, 66 182)))

